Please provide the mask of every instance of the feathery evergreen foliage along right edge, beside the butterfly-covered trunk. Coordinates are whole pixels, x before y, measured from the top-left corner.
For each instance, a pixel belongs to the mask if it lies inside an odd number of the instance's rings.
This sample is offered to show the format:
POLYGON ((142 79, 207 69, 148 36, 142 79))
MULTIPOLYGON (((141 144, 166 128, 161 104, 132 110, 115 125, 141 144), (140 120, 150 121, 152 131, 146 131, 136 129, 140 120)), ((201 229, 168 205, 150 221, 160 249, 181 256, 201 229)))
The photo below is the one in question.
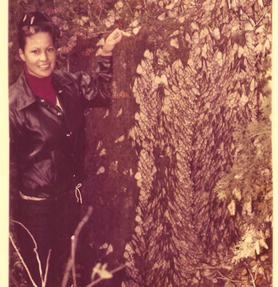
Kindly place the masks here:
POLYGON ((257 120, 234 129, 236 151, 229 172, 218 182, 218 198, 237 216, 242 236, 234 249, 235 262, 268 249, 273 221, 271 149, 271 56, 259 78, 262 84, 257 120))

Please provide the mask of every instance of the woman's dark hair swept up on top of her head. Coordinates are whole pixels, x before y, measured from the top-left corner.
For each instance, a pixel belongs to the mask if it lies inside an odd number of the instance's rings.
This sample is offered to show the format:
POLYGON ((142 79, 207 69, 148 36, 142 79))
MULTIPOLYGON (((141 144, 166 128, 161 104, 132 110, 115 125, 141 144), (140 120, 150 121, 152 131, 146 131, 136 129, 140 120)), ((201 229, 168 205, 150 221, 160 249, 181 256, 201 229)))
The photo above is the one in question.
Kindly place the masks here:
POLYGON ((58 27, 52 21, 48 20, 45 15, 40 12, 25 14, 18 26, 18 43, 20 49, 24 51, 28 36, 39 32, 48 32, 52 37, 53 43, 59 37, 58 27))

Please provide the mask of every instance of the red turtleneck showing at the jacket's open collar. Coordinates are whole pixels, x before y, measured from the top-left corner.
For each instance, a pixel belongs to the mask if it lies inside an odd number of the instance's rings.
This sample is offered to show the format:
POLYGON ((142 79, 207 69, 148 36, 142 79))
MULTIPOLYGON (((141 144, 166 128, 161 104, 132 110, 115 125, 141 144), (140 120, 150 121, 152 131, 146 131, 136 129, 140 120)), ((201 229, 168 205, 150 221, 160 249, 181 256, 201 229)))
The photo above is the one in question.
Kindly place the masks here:
POLYGON ((29 74, 26 65, 24 66, 24 74, 27 80, 27 83, 31 91, 38 97, 56 104, 56 93, 52 84, 52 74, 44 77, 38 78, 29 74))

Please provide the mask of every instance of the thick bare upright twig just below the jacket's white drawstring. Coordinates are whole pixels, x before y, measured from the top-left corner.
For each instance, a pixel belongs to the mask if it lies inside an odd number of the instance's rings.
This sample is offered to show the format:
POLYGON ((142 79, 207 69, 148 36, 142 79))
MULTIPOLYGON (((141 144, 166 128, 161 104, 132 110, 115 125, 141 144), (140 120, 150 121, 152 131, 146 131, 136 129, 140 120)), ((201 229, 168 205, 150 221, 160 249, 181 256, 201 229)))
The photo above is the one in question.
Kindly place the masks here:
POLYGON ((73 265, 73 259, 74 259, 74 256, 75 256, 74 254, 75 254, 75 251, 76 251, 76 246, 77 246, 79 233, 81 231, 81 228, 84 226, 84 224, 89 220, 89 217, 91 216, 92 212, 93 212, 93 207, 89 206, 87 213, 85 214, 85 216, 79 222, 78 226, 75 229, 74 236, 73 236, 74 237, 74 244, 72 245, 72 248, 71 248, 71 256, 70 256, 70 258, 68 260, 68 263, 67 263, 67 266, 66 266, 66 269, 65 269, 65 272, 64 272, 64 276, 63 276, 61 287, 66 287, 66 284, 67 284, 68 279, 69 279, 70 270, 72 269, 72 265, 73 265))

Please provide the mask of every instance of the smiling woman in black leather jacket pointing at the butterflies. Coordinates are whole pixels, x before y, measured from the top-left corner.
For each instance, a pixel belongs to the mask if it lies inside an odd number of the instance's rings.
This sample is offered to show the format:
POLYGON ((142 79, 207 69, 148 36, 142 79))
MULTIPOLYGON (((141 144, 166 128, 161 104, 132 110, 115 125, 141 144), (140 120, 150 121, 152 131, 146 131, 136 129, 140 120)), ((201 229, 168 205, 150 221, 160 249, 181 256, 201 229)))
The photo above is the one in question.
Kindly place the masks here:
POLYGON ((106 39, 94 79, 85 72, 55 70, 57 36, 57 27, 43 14, 24 15, 18 41, 25 65, 9 91, 10 153, 17 168, 20 201, 15 216, 20 253, 32 279, 41 286, 30 232, 38 245, 43 276, 49 266, 49 287, 60 286, 62 266, 70 255, 70 237, 79 223, 83 108, 88 102, 109 104, 111 56, 122 33, 116 29, 106 39))

